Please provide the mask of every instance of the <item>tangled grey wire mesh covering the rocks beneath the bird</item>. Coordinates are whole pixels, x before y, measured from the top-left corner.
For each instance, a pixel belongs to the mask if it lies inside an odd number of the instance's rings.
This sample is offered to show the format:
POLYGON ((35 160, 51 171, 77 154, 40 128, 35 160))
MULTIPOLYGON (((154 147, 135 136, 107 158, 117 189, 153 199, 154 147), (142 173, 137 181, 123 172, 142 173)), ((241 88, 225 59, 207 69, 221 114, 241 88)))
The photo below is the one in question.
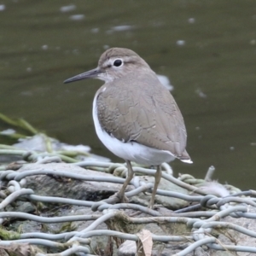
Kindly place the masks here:
MULTIPOLYGON (((108 182, 108 183, 123 183, 125 179, 126 167, 121 164, 113 164, 106 162, 94 162, 94 161, 81 161, 75 162, 73 166, 81 166, 83 168, 91 168, 98 172, 108 172, 118 174, 121 177, 105 177, 99 175, 96 177, 84 176, 83 174, 73 173, 73 172, 62 172, 54 171, 47 168, 42 168, 42 165, 49 162, 60 162, 63 157, 59 154, 37 154, 37 153, 27 153, 24 154, 22 151, 6 152, 2 151, 3 154, 22 154, 25 160, 37 160, 34 164, 35 166, 40 165, 40 167, 33 170, 27 170, 23 172, 17 172, 14 170, 3 170, 1 171, 0 181, 2 184, 2 191, 0 197, 2 199, 0 203, 0 222, 4 224, 7 219, 17 218, 32 220, 39 224, 56 224, 74 221, 90 221, 92 222, 84 230, 79 231, 68 231, 59 234, 49 234, 42 232, 28 232, 19 233, 14 231, 1 230, 2 240, 0 241, 0 247, 12 248, 14 244, 29 244, 29 246, 42 246, 45 248, 54 248, 58 253, 45 253, 37 247, 32 247, 30 250, 34 250, 34 255, 72 255, 74 253, 79 253, 79 255, 96 255, 90 250, 90 239, 94 236, 110 236, 121 240, 131 240, 139 241, 140 238, 137 234, 125 233, 121 230, 96 230, 97 227, 102 223, 108 223, 109 221, 114 221, 115 223, 125 223, 129 224, 184 224, 189 230, 188 235, 155 235, 151 233, 150 239, 154 242, 172 242, 172 241, 186 241, 189 243, 188 247, 184 248, 175 255, 182 256, 187 255, 195 251, 196 248, 206 245, 212 250, 229 250, 235 252, 248 252, 256 253, 256 248, 252 245, 251 247, 242 245, 228 245, 223 244, 218 241, 218 238, 212 235, 213 230, 236 230, 236 232, 244 234, 246 236, 256 237, 256 232, 253 230, 247 230, 237 224, 232 224, 230 222, 225 222, 223 219, 227 216, 230 218, 251 218, 256 219, 256 211, 248 212, 248 207, 256 207, 256 200, 253 198, 255 196, 255 191, 249 190, 241 192, 239 189, 229 186, 231 195, 224 197, 219 197, 217 195, 207 195, 206 190, 201 189, 200 183, 206 183, 205 180, 196 180, 194 177, 189 175, 183 175, 179 178, 172 176, 172 168, 164 164, 162 177, 183 189, 188 189, 190 195, 185 195, 178 192, 167 191, 158 189, 157 195, 164 195, 166 197, 178 198, 183 201, 188 201, 193 203, 193 206, 183 208, 174 212, 169 212, 168 214, 163 214, 160 211, 153 209, 148 209, 148 207, 143 207, 142 205, 134 203, 118 203, 114 197, 109 197, 108 199, 102 201, 83 201, 76 200, 72 198, 62 198, 57 196, 44 196, 36 195, 35 192, 26 188, 27 177, 44 176, 50 175, 61 178, 68 178, 80 181, 94 181, 94 182, 108 182), (3 189, 4 186, 6 189, 3 189), (195 193, 196 195, 192 195, 195 193), (91 207, 91 210, 98 212, 97 214, 89 215, 70 215, 70 216, 59 216, 59 217, 49 217, 49 216, 38 216, 26 212, 8 212, 5 211, 6 207, 10 206, 13 202, 19 200, 32 201, 34 203, 50 203, 50 204, 65 204, 70 206, 80 206, 80 207, 91 207), (129 217, 124 210, 133 210, 135 212, 141 212, 145 217, 129 217), (195 211, 197 209, 197 211, 195 211), (201 210, 203 209, 203 210, 201 210), (5 212, 4 212, 5 211, 5 212)), ((11 150, 11 149, 9 149, 11 150)), ((1 153, 1 152, 0 152, 1 153)), ((71 162, 68 160, 68 162, 71 162)), ((20 166, 26 167, 26 162, 20 164, 20 166)), ((146 169, 139 166, 134 166, 134 172, 140 175, 154 175, 155 170, 146 169)), ((212 172, 212 168, 210 169, 212 172)), ((211 175, 210 175, 211 176, 211 175)), ((126 192, 125 195, 128 198, 132 196, 139 195, 142 192, 150 192, 153 183, 146 183, 140 180, 139 176, 135 176, 131 185, 134 189, 126 192)), ((138 214, 139 215, 139 214, 138 214)), ((111 224, 110 224, 111 226, 111 224)), ((112 225, 113 227, 113 225, 112 225)))

